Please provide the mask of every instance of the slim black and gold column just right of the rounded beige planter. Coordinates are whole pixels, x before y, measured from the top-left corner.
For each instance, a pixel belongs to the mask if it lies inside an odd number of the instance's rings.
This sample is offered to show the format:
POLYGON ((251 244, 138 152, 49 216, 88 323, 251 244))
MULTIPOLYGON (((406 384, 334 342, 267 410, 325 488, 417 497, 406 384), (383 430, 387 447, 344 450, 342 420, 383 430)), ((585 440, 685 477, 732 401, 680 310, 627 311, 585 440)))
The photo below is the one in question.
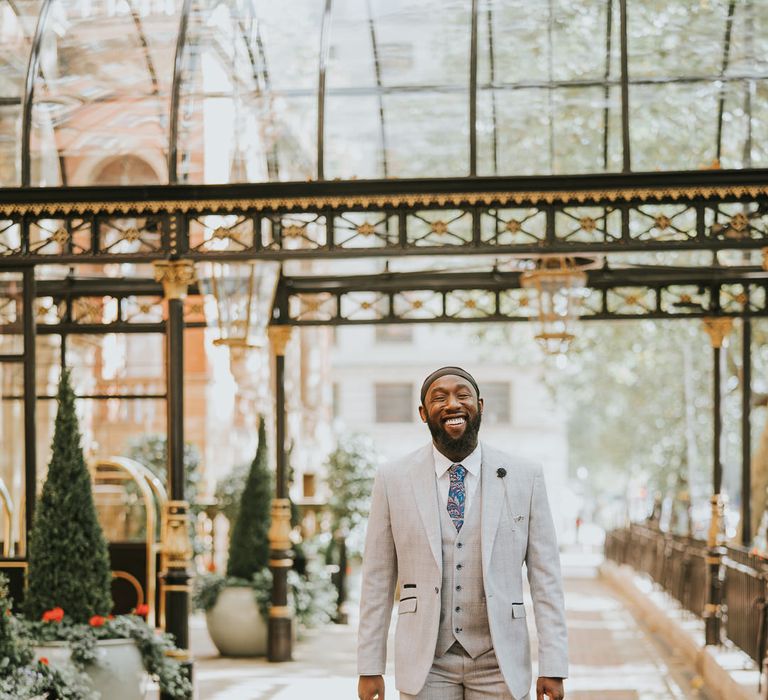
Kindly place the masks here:
POLYGON ((293 653, 293 613, 288 605, 288 571, 291 552, 291 502, 288 499, 287 454, 285 448, 285 349, 290 326, 271 326, 269 339, 275 352, 275 433, 277 475, 269 528, 269 567, 272 570, 272 607, 269 610, 267 658, 290 661, 293 653))

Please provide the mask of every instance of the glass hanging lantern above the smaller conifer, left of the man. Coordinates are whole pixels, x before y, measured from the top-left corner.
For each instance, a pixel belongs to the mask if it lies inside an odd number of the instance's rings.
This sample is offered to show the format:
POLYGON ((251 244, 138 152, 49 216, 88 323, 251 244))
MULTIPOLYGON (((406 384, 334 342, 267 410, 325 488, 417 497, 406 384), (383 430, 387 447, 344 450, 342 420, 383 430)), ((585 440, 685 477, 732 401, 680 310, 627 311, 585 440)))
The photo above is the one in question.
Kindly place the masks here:
POLYGON ((230 348, 261 347, 272 314, 280 263, 211 263, 200 285, 216 301, 219 337, 215 345, 230 348))

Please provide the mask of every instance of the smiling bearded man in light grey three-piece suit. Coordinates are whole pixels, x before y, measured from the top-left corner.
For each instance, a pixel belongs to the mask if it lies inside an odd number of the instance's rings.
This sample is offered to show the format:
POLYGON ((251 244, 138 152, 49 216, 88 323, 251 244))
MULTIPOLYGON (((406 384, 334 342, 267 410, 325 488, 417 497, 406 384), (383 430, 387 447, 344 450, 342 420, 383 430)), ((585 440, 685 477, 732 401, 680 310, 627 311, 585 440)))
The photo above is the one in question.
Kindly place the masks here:
POLYGON ((363 558, 360 700, 384 700, 398 580, 401 700, 528 700, 523 562, 539 639, 537 700, 564 697, 568 643, 542 470, 478 443, 482 413, 468 372, 436 370, 419 406, 432 444, 376 475, 363 558))

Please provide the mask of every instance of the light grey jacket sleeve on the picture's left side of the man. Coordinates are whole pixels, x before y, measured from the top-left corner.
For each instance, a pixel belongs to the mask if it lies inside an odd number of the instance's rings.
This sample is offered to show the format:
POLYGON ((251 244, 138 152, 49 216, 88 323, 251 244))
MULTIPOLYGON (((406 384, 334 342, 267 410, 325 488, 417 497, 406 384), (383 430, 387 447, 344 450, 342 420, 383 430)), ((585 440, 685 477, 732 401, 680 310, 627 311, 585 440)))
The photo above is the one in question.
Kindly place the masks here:
POLYGON ((397 582, 391 525, 384 473, 379 470, 373 484, 363 554, 357 642, 357 670, 361 676, 383 675, 387 662, 387 636, 397 582))

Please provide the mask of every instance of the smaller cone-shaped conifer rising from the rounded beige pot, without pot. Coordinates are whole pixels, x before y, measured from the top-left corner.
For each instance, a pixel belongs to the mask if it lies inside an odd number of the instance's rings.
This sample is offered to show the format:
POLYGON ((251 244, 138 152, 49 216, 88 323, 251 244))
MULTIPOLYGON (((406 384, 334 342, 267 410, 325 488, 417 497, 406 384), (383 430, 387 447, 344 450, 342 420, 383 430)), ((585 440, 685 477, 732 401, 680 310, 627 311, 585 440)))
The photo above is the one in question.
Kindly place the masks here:
POLYGON ((269 563, 269 521, 272 473, 264 419, 259 421, 259 446, 240 500, 240 511, 229 540, 227 576, 250 580, 269 563))

